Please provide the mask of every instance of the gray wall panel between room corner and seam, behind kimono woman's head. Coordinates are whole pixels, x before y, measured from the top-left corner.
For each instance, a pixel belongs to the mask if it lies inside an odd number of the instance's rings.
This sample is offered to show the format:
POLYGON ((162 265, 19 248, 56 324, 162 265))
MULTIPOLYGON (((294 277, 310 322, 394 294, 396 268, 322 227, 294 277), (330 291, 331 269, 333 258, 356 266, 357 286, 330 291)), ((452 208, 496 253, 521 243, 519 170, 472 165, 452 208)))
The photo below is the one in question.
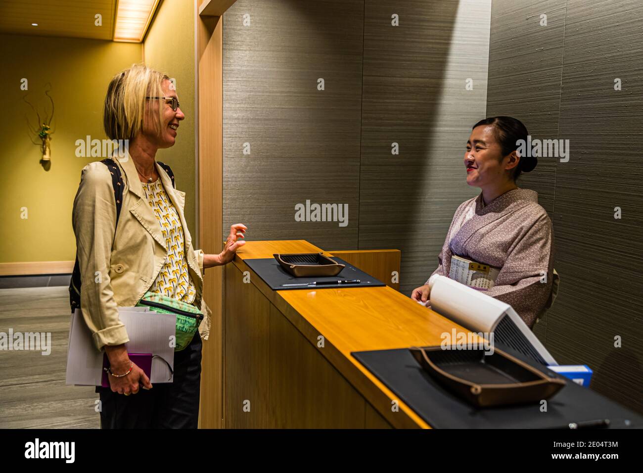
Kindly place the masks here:
MULTIPOLYGON (((558 138, 565 1, 493 0, 487 116, 514 116, 532 138, 558 138)), ((519 183, 538 192, 550 217, 555 178, 556 160, 542 158, 519 183)))

